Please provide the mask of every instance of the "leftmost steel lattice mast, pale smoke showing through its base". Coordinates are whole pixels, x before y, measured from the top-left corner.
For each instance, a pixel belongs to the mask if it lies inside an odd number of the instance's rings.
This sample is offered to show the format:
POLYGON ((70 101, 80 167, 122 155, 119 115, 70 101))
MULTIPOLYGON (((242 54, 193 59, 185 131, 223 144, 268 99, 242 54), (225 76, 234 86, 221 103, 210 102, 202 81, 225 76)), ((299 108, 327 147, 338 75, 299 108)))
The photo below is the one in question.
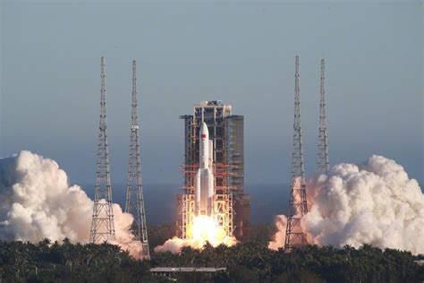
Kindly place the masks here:
POLYGON ((94 207, 89 242, 101 244, 114 240, 114 210, 110 184, 109 150, 106 134, 106 88, 105 58, 100 63, 100 124, 98 127, 98 161, 96 185, 94 187, 94 207))

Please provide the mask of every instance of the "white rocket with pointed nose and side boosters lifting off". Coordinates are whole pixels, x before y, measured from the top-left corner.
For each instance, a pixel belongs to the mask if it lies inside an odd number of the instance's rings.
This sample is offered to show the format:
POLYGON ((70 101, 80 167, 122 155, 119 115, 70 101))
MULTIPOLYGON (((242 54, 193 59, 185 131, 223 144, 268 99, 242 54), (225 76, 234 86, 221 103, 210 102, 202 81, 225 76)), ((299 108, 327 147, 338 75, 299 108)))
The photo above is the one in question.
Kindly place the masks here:
POLYGON ((195 215, 212 215, 214 208, 214 175, 212 174, 213 142, 209 141, 208 126, 203 122, 199 132, 199 170, 194 191, 195 215))

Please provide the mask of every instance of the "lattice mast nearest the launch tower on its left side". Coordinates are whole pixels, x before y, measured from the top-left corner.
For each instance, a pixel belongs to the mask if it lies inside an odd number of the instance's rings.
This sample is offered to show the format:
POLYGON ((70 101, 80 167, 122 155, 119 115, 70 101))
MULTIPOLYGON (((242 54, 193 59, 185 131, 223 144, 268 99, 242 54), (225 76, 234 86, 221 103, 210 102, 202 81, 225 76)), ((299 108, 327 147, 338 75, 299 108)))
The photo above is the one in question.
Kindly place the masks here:
POLYGON ((150 257, 148 251, 148 228, 143 201, 143 185, 141 181, 141 158, 139 139, 139 116, 137 111, 137 77, 136 62, 132 61, 132 102, 131 102, 130 160, 128 166, 128 183, 126 191, 125 212, 134 217, 132 231, 143 247, 145 259, 150 257))

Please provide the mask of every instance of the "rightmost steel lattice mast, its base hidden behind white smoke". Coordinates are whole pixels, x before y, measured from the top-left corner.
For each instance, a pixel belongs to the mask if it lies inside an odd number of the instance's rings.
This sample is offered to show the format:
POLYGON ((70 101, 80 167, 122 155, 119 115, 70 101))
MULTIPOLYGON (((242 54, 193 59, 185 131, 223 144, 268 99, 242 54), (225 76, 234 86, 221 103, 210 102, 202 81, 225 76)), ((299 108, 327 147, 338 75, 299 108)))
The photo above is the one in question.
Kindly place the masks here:
POLYGON ((318 165, 319 174, 327 174, 330 165, 328 161, 328 142, 326 136, 326 89, 325 80, 325 62, 321 59, 321 86, 319 99, 319 126, 318 126, 318 165))

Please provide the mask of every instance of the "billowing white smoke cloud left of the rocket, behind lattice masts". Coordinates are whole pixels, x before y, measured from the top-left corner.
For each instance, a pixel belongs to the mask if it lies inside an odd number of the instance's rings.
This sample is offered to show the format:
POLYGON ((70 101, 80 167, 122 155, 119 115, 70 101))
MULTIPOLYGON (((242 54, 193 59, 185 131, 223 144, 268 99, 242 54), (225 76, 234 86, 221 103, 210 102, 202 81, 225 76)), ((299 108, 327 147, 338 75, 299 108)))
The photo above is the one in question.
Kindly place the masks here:
MULTIPOLYGON (((38 242, 43 238, 88 243, 93 202, 52 159, 30 151, 0 159, 0 239, 38 242)), ((114 204, 116 240, 140 258, 140 242, 130 232, 132 216, 114 204)))

